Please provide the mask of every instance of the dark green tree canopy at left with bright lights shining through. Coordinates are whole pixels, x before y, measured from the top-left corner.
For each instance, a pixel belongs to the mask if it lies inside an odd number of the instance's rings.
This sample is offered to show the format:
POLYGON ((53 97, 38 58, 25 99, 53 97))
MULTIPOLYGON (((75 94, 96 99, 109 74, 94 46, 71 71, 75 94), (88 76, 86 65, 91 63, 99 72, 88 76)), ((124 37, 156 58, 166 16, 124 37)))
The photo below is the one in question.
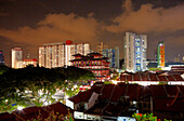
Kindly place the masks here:
POLYGON ((55 102, 52 95, 58 90, 67 91, 66 89, 74 86, 74 83, 90 79, 94 79, 90 70, 76 67, 9 68, 0 75, 0 111, 15 108, 25 102, 30 102, 36 106, 42 106, 44 102, 55 102))

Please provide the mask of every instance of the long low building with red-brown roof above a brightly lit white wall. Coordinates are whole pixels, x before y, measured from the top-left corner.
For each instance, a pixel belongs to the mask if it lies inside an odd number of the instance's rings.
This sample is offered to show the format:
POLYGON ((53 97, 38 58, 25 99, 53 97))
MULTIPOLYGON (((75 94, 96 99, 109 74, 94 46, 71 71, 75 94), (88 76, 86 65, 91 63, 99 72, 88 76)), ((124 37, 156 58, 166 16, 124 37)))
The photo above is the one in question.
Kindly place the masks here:
MULTIPOLYGON (((161 71, 161 70, 160 70, 161 71)), ((170 84, 170 85, 184 85, 184 79, 179 73, 171 73, 169 71, 161 71, 161 73, 153 72, 122 72, 119 80, 114 80, 114 83, 136 83, 140 85, 158 85, 158 84, 170 84)))

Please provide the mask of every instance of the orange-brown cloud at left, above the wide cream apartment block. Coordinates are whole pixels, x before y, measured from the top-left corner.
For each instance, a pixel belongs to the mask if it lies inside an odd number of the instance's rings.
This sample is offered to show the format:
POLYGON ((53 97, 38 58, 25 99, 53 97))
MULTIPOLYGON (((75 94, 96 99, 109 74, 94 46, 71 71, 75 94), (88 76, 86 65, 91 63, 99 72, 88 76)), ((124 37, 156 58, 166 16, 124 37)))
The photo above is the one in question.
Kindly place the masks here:
POLYGON ((89 42, 96 40, 97 26, 92 13, 87 18, 74 13, 49 14, 36 28, 25 26, 17 30, 3 29, 0 30, 0 36, 32 45, 64 42, 66 39, 89 42))

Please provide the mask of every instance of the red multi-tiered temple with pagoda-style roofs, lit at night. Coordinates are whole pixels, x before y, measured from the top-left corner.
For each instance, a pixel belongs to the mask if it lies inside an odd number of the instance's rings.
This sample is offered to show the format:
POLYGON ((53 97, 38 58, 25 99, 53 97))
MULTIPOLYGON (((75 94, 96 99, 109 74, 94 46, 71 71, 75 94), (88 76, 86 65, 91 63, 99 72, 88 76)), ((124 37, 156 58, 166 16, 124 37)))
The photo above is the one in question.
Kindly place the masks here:
POLYGON ((73 66, 91 70, 97 80, 106 80, 109 78, 109 66, 107 57, 103 57, 100 53, 90 53, 87 56, 75 54, 71 59, 73 66))

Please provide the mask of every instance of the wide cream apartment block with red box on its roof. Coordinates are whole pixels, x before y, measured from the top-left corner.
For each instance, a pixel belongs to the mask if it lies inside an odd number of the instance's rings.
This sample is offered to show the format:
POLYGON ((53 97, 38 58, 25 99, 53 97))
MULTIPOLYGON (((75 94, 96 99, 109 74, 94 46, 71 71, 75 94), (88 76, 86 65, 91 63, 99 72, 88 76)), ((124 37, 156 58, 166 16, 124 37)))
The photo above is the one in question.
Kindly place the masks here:
POLYGON ((50 43, 39 46, 39 66, 45 68, 70 66, 69 60, 74 59, 74 54, 87 55, 90 53, 89 43, 50 43))

